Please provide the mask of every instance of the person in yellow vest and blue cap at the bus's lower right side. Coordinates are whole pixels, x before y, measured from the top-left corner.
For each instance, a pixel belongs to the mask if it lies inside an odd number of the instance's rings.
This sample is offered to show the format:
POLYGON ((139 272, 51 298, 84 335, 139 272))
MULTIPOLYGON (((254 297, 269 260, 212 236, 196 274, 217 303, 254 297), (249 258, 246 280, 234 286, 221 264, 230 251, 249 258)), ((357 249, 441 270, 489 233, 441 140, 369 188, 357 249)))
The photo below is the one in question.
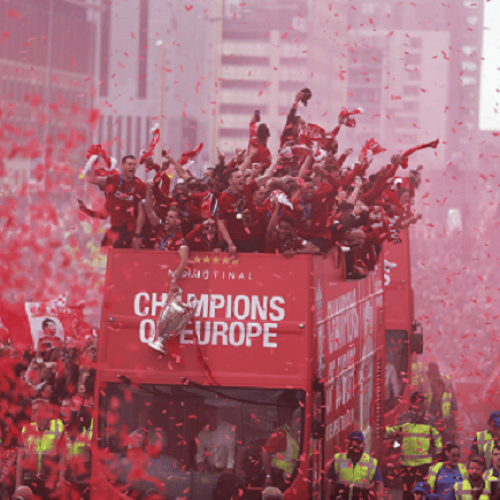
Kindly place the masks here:
POLYGON ((337 453, 328 471, 327 499, 368 500, 382 493, 384 483, 377 460, 364 453, 364 436, 355 431, 349 436, 346 453, 337 453))

